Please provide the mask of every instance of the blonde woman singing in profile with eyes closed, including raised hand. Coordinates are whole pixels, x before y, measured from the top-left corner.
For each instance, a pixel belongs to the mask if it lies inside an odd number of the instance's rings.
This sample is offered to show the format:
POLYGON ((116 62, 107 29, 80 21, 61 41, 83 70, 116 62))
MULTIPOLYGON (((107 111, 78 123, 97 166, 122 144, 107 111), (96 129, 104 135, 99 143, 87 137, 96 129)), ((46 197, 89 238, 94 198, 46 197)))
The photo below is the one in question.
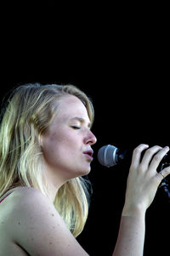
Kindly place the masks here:
MULTIPOLYGON (((26 84, 9 97, 0 130, 1 255, 88 255, 76 240, 88 217, 94 108, 72 85, 26 84)), ((168 147, 139 145, 127 179, 113 256, 143 254, 144 215, 168 147)), ((105 250, 105 248, 104 248, 105 250)))

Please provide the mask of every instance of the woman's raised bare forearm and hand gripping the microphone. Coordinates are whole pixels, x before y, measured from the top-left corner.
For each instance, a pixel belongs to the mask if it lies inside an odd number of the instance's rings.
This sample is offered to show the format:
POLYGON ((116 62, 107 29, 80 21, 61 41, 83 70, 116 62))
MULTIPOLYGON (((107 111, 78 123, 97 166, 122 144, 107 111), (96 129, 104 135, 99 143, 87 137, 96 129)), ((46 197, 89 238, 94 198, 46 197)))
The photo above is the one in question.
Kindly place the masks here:
MULTIPOLYGON (((167 146, 164 148, 153 146, 145 151, 140 161, 141 152, 148 147, 148 145, 139 145, 133 151, 126 199, 113 256, 142 256, 144 253, 145 213, 163 179, 162 175, 156 172, 156 168, 169 151, 167 146)), ((170 174, 170 167, 164 168, 161 173, 166 177, 170 174)))

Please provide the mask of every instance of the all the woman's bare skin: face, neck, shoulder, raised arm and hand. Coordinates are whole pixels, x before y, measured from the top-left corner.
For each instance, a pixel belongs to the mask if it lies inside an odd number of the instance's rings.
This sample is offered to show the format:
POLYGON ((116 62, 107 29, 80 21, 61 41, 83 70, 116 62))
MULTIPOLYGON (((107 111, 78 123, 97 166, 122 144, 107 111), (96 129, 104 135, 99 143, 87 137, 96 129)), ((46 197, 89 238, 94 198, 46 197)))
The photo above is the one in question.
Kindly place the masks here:
MULTIPOLYGON (((68 179, 89 173, 91 160, 83 152, 91 149, 95 142, 85 106, 75 96, 62 98, 57 116, 41 140, 46 170, 44 178, 50 185, 50 198, 33 188, 17 188, 0 203, 2 256, 88 256, 52 202, 59 187, 68 179), (81 117, 83 122, 73 117, 81 117)), ((167 147, 139 145, 133 151, 113 256, 143 255, 145 212, 163 179, 156 168, 168 150, 167 147), (144 149, 147 150, 140 161, 144 149)), ((166 177, 170 168, 165 168, 162 174, 166 177)), ((102 250, 105 252, 105 248, 102 250)))

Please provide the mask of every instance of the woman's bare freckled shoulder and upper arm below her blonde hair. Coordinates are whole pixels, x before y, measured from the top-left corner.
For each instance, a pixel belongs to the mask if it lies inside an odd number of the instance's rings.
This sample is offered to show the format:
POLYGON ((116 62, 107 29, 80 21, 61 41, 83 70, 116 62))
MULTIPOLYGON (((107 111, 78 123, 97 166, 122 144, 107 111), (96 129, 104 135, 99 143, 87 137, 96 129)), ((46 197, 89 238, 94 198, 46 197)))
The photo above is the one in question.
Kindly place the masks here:
MULTIPOLYGON (((12 198, 12 197, 11 197, 12 198)), ((36 189, 14 191, 11 239, 31 255, 87 256, 71 235, 54 204, 36 189)))

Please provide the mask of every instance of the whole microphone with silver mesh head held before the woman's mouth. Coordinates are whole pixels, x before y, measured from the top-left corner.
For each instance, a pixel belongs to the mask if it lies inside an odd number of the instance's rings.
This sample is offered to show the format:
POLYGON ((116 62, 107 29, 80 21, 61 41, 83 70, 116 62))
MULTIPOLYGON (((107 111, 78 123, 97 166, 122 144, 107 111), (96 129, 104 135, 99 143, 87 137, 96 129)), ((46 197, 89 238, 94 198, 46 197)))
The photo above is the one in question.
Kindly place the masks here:
MULTIPOLYGON (((114 145, 104 145, 98 151, 98 160, 107 168, 122 162, 131 162, 133 151, 122 151, 114 145)), ((144 153, 143 153, 144 154, 144 153)), ((170 156, 167 154, 161 160, 161 165, 170 165, 170 156)))

